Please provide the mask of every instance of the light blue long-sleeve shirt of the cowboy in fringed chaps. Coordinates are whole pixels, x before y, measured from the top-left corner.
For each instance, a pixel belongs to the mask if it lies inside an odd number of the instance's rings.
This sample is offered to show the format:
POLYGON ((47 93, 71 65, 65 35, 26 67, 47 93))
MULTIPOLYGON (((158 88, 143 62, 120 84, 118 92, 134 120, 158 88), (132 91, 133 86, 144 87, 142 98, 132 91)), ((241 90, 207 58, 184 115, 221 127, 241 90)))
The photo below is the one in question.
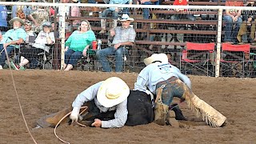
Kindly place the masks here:
POLYGON ((153 94, 156 94, 158 82, 166 81, 173 76, 180 78, 191 89, 190 78, 182 74, 176 66, 171 65, 169 62, 155 62, 146 66, 138 74, 137 82, 134 83, 134 90, 146 91, 148 88, 153 94))

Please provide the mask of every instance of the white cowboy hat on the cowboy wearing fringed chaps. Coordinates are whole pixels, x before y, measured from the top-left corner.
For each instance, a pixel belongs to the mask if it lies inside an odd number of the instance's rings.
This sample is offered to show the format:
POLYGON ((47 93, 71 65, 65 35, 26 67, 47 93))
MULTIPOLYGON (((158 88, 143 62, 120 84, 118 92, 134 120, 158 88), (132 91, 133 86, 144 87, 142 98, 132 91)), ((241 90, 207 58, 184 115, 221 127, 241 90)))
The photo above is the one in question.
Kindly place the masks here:
POLYGON ((144 59, 146 66, 150 65, 152 62, 168 62, 168 57, 166 54, 152 54, 149 58, 144 59))

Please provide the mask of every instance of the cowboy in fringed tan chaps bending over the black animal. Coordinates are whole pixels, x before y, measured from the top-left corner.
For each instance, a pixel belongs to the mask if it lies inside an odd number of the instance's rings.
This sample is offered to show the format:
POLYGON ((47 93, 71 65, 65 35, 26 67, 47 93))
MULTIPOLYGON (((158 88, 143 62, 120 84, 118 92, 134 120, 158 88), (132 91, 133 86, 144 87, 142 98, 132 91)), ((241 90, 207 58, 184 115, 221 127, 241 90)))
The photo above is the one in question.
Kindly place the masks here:
POLYGON ((182 74, 176 66, 168 62, 166 54, 153 54, 144 59, 146 67, 138 74, 134 90, 150 90, 156 94, 154 107, 154 122, 159 125, 170 124, 178 126, 174 121, 174 112, 170 111, 170 104, 174 97, 186 100, 188 106, 197 116, 202 116, 212 127, 222 126, 226 117, 213 107, 202 101, 191 91, 190 78, 182 74))

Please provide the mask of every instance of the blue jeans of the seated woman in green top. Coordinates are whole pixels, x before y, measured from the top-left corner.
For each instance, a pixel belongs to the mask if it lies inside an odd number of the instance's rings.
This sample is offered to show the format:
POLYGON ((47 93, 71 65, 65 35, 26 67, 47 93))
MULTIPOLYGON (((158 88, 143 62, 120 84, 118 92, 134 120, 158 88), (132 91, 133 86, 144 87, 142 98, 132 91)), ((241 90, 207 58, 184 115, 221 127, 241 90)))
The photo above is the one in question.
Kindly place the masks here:
POLYGON ((65 63, 68 65, 75 66, 78 63, 78 59, 82 58, 82 52, 81 51, 74 51, 71 49, 68 49, 65 52, 65 63))

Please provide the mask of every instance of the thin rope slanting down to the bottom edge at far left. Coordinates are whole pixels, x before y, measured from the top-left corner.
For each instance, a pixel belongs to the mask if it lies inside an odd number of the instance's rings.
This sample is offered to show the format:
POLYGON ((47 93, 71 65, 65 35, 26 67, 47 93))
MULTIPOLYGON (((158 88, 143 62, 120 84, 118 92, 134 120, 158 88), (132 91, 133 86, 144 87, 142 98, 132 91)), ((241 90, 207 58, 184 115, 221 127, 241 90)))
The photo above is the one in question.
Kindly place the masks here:
POLYGON ((10 59, 9 59, 9 55, 7 53, 7 50, 6 48, 4 48, 5 52, 6 52, 6 58, 7 58, 7 62, 8 62, 8 66, 9 66, 9 69, 10 69, 10 75, 11 75, 11 78, 12 78, 12 82, 13 82, 13 86, 14 86, 14 91, 15 91, 15 94, 16 94, 16 98, 18 99, 18 106, 19 106, 19 109, 21 110, 21 113, 22 113, 22 118, 23 118, 23 121, 25 122, 25 125, 26 125, 26 130, 28 130, 29 134, 30 134, 30 137, 32 138, 32 140, 34 141, 34 143, 37 144, 37 142, 35 141, 33 135, 31 134, 30 132, 30 129, 29 129, 29 126, 27 126, 27 123, 26 123, 26 118, 23 114, 23 110, 22 110, 22 105, 21 105, 21 102, 18 98, 18 92, 17 92, 17 89, 16 89, 16 85, 15 85, 15 82, 14 82, 14 74, 13 74, 13 71, 11 70, 10 68, 10 59))

